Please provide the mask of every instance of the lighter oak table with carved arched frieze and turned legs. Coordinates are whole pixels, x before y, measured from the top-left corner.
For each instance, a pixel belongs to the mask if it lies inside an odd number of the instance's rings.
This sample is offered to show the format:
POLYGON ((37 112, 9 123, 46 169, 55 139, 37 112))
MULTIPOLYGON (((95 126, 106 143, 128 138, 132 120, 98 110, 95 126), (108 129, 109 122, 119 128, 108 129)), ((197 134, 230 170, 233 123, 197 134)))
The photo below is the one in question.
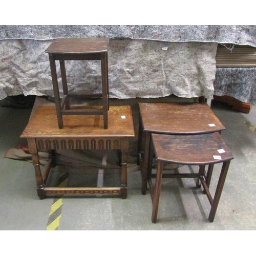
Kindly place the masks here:
MULTIPOLYGON (((97 108, 98 106, 94 106, 97 108)), ((79 106, 76 109, 79 110, 79 106)), ((84 108, 84 106, 82 107, 84 108)), ((92 106, 90 106, 92 108, 92 106)), ((27 138, 35 168, 37 194, 40 199, 46 196, 127 196, 127 154, 129 139, 135 137, 131 106, 110 106, 109 129, 103 129, 100 115, 67 115, 63 117, 66 125, 58 128, 54 106, 39 106, 32 115, 20 137, 27 138), (42 174, 38 151, 52 152, 62 150, 120 150, 120 187, 46 187, 54 154, 50 154, 48 165, 42 174)))

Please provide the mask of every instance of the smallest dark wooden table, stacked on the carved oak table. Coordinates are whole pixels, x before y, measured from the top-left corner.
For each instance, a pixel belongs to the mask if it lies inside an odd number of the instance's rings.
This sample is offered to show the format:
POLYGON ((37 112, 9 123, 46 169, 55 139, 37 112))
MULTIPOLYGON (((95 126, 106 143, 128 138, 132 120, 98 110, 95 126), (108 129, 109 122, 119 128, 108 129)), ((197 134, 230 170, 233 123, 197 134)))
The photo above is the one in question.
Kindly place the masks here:
POLYGON ((46 49, 49 54, 53 92, 55 98, 59 129, 63 128, 62 115, 103 115, 104 129, 108 129, 109 75, 108 75, 108 38, 60 38, 55 39, 46 49), (55 60, 59 60, 63 87, 63 99, 60 100, 55 60), (100 60, 102 93, 70 94, 68 90, 65 60, 100 60), (102 98, 101 109, 72 109, 71 97, 102 98))

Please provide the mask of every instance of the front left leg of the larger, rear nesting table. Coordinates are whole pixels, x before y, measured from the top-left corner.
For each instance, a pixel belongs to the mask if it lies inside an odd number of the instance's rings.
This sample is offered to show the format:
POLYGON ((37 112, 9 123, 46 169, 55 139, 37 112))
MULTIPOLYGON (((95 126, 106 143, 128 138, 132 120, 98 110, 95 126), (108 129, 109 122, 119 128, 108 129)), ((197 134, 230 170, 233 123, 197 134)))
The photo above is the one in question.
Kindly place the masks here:
POLYGON ((144 143, 144 154, 142 159, 142 185, 141 185, 141 194, 146 194, 147 187, 147 174, 148 174, 148 157, 150 156, 150 140, 151 134, 145 132, 145 143, 144 143))

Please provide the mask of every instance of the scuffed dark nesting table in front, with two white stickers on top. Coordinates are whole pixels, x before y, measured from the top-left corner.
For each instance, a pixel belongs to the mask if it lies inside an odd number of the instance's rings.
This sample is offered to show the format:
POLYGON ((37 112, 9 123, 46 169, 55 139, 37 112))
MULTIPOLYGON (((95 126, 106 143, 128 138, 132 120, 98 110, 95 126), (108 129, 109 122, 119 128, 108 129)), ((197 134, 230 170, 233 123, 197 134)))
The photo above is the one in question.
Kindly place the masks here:
POLYGON ((208 220, 214 221, 222 189, 227 176, 228 167, 233 156, 219 133, 200 135, 163 135, 152 134, 152 140, 157 160, 155 187, 150 178, 150 191, 153 202, 152 222, 157 222, 159 197, 162 178, 198 178, 197 187, 203 185, 211 208, 208 220), (163 164, 174 163, 182 165, 199 165, 198 173, 163 174, 163 164), (209 191, 208 177, 204 177, 206 165, 214 166, 223 163, 215 195, 212 198, 209 191), (199 184, 199 180, 201 184, 199 184))

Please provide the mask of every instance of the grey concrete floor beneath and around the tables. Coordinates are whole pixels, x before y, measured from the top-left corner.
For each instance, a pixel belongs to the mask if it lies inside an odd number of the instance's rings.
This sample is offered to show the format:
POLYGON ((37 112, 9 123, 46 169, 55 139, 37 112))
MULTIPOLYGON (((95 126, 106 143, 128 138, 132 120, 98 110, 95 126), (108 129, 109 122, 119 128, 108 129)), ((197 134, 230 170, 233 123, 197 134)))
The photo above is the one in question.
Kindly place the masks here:
MULTIPOLYGON (((152 224, 150 194, 141 195, 140 171, 128 174, 127 199, 62 198, 58 230, 255 230, 256 107, 249 114, 212 106, 226 130, 234 155, 215 221, 207 220, 210 205, 192 179, 165 179, 158 222, 152 224)), ((31 109, 0 107, 0 230, 46 230, 54 198, 39 200, 33 165, 4 157, 9 148, 26 144, 19 138, 31 109)), ((188 167, 182 166, 186 169, 188 167)), ((218 176, 212 178, 212 187, 218 176)))

